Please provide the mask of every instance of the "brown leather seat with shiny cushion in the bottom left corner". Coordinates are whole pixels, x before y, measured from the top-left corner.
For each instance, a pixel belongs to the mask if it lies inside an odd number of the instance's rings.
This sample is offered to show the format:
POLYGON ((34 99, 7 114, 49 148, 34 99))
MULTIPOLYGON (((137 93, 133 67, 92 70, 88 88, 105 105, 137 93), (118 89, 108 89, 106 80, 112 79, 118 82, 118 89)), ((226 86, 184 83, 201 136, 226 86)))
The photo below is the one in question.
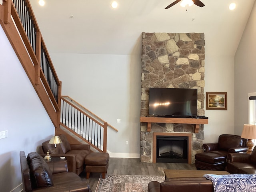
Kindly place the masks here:
POLYGON ((24 192, 91 192, 87 182, 68 172, 67 161, 46 162, 40 154, 20 151, 20 168, 24 192))

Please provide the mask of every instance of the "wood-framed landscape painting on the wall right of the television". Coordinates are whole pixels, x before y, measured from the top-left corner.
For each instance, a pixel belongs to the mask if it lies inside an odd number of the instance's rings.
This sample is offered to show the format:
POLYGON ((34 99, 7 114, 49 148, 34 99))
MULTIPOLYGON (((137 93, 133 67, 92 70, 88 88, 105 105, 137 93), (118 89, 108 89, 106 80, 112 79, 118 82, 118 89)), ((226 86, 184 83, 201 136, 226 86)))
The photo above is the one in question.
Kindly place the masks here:
POLYGON ((206 92, 206 109, 228 110, 227 92, 206 92))

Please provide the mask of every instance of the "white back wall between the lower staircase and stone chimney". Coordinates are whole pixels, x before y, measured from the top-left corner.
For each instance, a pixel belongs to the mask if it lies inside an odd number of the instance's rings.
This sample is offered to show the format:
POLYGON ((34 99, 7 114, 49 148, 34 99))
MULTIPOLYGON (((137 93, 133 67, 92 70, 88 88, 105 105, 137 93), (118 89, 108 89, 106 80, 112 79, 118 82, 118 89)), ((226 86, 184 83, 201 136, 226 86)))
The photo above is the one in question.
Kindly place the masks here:
POLYGON ((108 129, 107 149, 112 157, 140 154, 140 57, 51 54, 62 81, 62 95, 70 96, 118 129, 108 129))

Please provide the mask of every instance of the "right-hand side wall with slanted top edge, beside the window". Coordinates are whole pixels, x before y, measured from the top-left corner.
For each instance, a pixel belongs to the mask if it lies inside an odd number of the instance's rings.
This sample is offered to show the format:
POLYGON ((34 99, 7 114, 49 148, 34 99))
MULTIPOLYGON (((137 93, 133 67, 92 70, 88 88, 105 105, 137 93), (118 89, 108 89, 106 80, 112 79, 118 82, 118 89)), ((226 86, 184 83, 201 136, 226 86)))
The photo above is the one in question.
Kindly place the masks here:
POLYGON ((235 133, 248 123, 248 93, 256 92, 256 3, 235 55, 235 133))

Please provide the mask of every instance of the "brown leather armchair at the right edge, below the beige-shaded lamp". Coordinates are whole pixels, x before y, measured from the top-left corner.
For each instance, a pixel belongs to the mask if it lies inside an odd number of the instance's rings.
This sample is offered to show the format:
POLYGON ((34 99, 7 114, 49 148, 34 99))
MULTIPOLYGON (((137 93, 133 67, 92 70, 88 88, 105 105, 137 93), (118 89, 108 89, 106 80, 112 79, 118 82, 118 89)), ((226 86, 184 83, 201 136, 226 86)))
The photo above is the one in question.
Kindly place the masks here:
POLYGON ((228 154, 226 170, 231 174, 256 174, 256 148, 252 154, 228 154))

